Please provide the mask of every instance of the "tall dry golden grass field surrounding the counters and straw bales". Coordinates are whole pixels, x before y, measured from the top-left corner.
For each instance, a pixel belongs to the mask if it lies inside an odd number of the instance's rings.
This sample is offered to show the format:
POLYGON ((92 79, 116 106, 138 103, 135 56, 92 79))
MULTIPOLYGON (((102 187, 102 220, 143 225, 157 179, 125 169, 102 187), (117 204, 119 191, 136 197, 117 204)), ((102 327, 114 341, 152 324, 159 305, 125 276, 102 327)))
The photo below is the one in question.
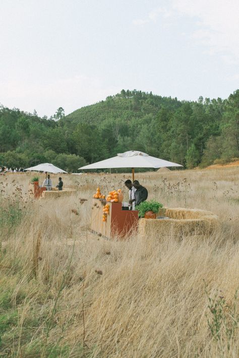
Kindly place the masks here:
POLYGON ((137 175, 149 198, 220 219, 211 237, 160 242, 89 231, 97 186, 127 196, 128 174, 63 175, 77 192, 49 200, 29 198, 33 174, 0 175, 0 357, 237 358, 238 174, 137 175))

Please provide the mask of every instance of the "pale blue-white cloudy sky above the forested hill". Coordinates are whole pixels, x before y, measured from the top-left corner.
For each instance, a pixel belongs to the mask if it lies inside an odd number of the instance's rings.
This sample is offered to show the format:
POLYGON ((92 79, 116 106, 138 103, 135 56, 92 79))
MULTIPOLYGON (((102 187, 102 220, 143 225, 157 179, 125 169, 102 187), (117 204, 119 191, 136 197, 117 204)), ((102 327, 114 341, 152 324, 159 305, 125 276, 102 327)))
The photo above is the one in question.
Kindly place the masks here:
POLYGON ((40 116, 125 90, 239 88, 238 0, 1 0, 0 103, 40 116))

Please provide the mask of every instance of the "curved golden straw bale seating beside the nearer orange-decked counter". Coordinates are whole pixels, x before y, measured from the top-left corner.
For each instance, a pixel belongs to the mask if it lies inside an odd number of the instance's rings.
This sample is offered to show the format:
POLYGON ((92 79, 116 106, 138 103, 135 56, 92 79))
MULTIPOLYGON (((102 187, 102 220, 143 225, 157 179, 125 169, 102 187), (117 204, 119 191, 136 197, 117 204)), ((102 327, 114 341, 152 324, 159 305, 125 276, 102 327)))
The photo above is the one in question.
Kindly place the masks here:
POLYGON ((210 235, 219 228, 219 218, 210 211, 186 208, 162 208, 158 216, 169 219, 140 219, 139 234, 178 238, 188 235, 210 235))

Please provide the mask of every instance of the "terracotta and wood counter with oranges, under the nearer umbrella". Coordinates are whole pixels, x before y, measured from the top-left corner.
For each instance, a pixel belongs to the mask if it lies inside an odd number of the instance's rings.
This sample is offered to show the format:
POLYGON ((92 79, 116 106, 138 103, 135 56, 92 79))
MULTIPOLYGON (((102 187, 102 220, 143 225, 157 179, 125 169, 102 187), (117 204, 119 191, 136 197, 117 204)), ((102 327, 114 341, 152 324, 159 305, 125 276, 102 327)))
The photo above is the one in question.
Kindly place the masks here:
POLYGON ((102 221, 103 204, 99 199, 92 199, 91 225, 93 232, 108 239, 127 239, 138 229, 138 211, 122 210, 122 203, 108 202, 106 221, 102 221))

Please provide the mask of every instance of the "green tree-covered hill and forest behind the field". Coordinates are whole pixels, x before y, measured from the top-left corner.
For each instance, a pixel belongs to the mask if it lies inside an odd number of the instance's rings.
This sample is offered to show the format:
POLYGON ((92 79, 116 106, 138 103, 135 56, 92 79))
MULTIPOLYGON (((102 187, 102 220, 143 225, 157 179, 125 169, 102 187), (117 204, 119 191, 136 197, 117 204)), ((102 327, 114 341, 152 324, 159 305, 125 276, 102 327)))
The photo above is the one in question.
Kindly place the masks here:
POLYGON ((68 171, 140 150, 187 168, 239 157, 239 90, 228 99, 178 101, 141 91, 109 96, 49 119, 0 108, 0 165, 51 162, 68 171))

